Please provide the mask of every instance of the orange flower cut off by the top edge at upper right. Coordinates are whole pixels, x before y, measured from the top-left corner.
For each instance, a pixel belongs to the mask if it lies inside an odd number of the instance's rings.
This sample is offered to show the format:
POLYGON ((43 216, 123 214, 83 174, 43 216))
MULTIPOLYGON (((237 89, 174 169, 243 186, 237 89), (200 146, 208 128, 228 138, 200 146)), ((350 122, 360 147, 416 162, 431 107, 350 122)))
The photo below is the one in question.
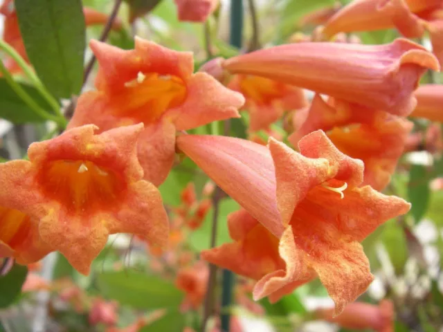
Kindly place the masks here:
POLYGON ((440 0, 356 0, 326 22, 323 34, 399 28, 406 37, 419 37, 422 24, 414 13, 435 8, 440 0))

